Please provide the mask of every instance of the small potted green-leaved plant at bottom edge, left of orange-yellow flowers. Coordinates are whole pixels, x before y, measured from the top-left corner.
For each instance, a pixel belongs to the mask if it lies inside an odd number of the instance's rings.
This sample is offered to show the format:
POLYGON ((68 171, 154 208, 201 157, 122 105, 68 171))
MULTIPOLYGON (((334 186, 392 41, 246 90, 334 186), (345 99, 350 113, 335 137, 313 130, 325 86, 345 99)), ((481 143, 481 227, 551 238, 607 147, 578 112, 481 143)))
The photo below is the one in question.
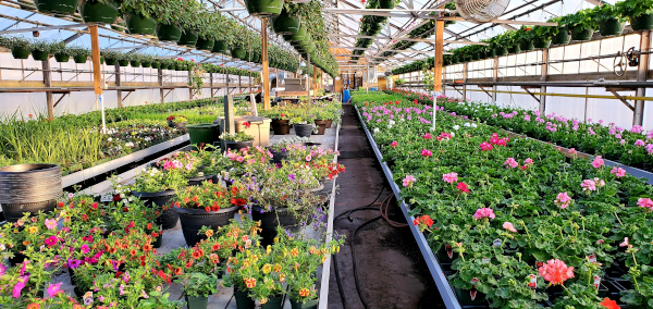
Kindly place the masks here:
POLYGON ((184 297, 188 309, 206 309, 209 296, 218 292, 219 280, 214 273, 184 273, 175 282, 184 286, 184 297))

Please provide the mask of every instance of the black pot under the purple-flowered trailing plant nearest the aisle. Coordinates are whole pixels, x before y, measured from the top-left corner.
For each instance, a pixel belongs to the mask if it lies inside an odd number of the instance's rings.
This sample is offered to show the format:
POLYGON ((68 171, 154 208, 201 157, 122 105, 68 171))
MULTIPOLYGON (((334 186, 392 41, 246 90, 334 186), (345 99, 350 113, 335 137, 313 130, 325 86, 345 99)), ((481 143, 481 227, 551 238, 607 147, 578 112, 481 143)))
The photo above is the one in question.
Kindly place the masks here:
POLYGON ((273 208, 272 210, 264 211, 261 213, 262 208, 255 206, 251 208, 251 219, 254 221, 261 221, 261 246, 267 247, 274 243, 276 237, 276 227, 282 226, 286 230, 298 231, 300 225, 299 221, 293 212, 287 208, 273 208))

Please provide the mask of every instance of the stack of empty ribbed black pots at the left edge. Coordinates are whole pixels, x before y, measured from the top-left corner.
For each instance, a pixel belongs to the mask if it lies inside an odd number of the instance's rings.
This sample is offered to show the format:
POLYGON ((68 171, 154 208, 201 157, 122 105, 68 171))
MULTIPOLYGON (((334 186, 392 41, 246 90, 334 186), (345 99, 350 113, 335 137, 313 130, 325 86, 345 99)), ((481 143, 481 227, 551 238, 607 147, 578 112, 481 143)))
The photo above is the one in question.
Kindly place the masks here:
POLYGON ((51 212, 63 194, 61 168, 54 164, 17 164, 0 168, 0 203, 7 222, 24 212, 51 212))

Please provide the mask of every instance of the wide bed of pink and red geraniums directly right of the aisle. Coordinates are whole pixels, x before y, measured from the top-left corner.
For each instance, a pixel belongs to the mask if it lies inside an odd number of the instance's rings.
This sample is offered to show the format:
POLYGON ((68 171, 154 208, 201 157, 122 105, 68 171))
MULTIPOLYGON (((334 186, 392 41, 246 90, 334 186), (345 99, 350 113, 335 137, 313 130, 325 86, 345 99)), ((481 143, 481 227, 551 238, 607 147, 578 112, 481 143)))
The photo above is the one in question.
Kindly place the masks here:
POLYGON ((449 112, 431 131, 418 99, 353 97, 460 301, 653 308, 653 188, 642 180, 449 112))

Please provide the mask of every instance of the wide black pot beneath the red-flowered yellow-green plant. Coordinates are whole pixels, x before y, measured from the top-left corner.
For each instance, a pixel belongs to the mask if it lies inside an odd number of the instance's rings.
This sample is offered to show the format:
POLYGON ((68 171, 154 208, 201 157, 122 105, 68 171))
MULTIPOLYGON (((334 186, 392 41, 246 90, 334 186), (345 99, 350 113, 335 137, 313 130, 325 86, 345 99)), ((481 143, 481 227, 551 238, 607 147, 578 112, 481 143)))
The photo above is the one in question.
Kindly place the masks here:
POLYGON ((178 213, 184 239, 188 247, 193 247, 200 240, 207 238, 206 235, 197 234, 202 226, 210 226, 211 230, 218 231, 219 227, 227 225, 230 220, 234 219, 238 209, 241 208, 234 206, 220 209, 219 211, 207 212, 204 209, 174 208, 178 213))

